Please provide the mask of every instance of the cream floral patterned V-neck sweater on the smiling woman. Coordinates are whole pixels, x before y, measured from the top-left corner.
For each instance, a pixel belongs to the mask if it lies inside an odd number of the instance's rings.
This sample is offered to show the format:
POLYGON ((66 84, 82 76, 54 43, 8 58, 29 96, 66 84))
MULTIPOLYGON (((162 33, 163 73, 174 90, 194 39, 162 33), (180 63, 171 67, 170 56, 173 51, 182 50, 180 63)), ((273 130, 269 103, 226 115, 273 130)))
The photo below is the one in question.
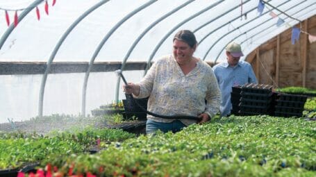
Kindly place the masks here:
MULTIPOLYGON (((199 59, 197 66, 183 74, 173 55, 160 58, 151 66, 138 83, 140 94, 135 98, 149 96, 147 110, 158 115, 198 116, 205 112, 213 117, 221 103, 221 92, 212 68, 199 59)), ((171 122, 147 115, 147 119, 171 122)), ((179 119, 186 126, 196 123, 193 119, 179 119)))

